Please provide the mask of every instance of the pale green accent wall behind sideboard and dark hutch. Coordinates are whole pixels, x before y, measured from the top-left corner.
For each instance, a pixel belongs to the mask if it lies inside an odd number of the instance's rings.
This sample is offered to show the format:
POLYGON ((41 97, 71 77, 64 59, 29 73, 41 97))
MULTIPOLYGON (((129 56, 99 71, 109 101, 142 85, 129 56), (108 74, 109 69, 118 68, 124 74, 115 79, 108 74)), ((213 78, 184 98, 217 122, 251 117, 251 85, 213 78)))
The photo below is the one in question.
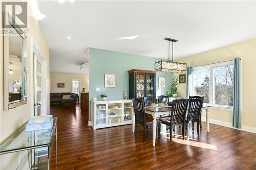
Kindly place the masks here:
MULTIPOLYGON (((89 96, 90 100, 97 97, 100 100, 100 94, 106 94, 109 99, 123 99, 123 91, 129 90, 128 70, 145 69, 155 70, 155 62, 162 60, 155 57, 140 56, 128 53, 120 53, 98 48, 90 48, 89 59, 89 96), (104 74, 116 75, 116 87, 105 88, 104 74), (96 87, 100 91, 96 91, 96 87)), ((156 74, 156 95, 165 95, 173 80, 172 73, 157 72, 156 74), (166 78, 166 87, 159 88, 159 77, 166 78)), ((89 112, 91 104, 89 105, 89 112)), ((91 112, 90 112, 91 113, 91 112)), ((91 116, 90 116, 91 120, 91 116)))

